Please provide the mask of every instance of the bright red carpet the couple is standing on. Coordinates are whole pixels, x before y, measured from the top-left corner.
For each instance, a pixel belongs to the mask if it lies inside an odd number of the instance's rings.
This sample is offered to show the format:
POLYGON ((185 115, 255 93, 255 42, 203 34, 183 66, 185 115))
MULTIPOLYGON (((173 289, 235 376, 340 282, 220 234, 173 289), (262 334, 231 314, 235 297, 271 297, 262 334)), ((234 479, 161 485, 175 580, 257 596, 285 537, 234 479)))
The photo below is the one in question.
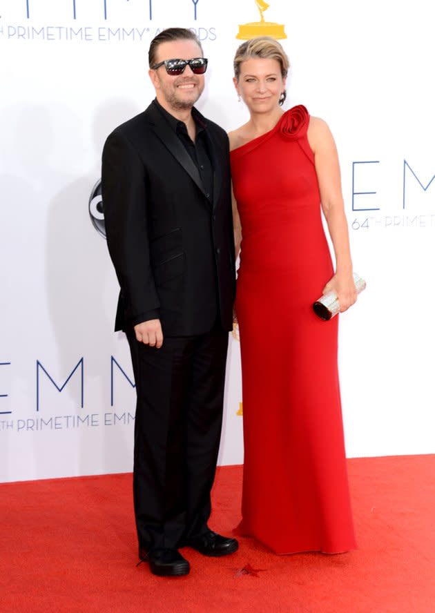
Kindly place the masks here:
MULTIPOLYGON (((359 549, 275 556, 249 538, 191 574, 136 567, 131 475, 0 485, 0 611, 435 612, 435 456, 349 460, 359 549), (251 574, 243 567, 253 569, 251 574)), ((240 519, 241 467, 218 469, 211 527, 240 519)))

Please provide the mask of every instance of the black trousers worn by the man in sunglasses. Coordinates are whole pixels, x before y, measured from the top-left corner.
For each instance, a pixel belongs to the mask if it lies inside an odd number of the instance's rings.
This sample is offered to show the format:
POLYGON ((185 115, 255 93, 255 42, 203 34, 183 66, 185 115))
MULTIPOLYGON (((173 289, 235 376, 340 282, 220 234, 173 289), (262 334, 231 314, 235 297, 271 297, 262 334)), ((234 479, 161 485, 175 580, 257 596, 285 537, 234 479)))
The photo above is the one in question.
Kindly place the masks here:
POLYGON ((133 496, 139 545, 181 547, 207 529, 218 460, 228 332, 127 333, 137 391, 133 496))

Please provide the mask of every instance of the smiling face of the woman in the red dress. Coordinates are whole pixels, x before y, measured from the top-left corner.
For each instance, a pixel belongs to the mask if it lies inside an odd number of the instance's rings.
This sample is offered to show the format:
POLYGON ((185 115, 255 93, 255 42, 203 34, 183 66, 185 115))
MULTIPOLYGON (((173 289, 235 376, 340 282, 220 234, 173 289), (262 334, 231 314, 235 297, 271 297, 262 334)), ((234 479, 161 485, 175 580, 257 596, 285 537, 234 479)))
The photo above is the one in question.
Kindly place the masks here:
POLYGON ((277 59, 251 57, 242 62, 239 80, 233 81, 251 113, 268 113, 278 106, 286 79, 277 59))

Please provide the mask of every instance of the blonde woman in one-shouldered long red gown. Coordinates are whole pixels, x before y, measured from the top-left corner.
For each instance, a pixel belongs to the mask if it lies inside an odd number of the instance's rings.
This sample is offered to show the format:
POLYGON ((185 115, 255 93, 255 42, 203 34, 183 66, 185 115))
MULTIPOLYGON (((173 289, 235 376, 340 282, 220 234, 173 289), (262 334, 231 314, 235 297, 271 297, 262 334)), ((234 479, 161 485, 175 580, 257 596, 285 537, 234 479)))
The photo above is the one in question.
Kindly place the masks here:
POLYGON ((311 305, 356 300, 334 139, 304 106, 281 105, 289 61, 267 37, 242 43, 234 84, 247 124, 230 133, 242 235, 240 327, 244 481, 240 534, 278 554, 356 547, 337 371, 338 318, 311 305), (321 203, 321 204, 320 204, 321 203), (322 227, 327 220, 334 272, 322 227))

